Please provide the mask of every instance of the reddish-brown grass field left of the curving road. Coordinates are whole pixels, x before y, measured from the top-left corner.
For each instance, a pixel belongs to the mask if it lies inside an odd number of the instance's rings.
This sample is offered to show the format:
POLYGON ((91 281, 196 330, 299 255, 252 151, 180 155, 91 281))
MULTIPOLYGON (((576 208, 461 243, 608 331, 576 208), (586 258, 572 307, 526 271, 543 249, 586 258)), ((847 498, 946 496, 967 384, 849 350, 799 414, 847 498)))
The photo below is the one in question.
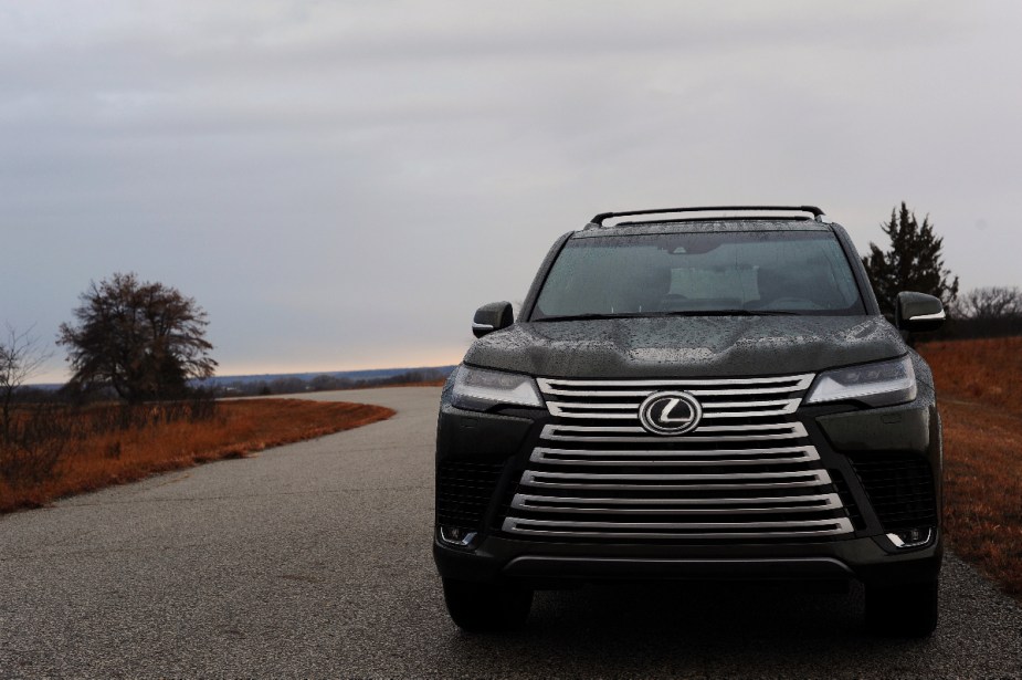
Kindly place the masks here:
MULTIPOLYGON (((362 404, 253 399, 219 402, 212 417, 197 421, 157 418, 144 427, 112 431, 96 428, 101 431, 69 444, 46 479, 12 485, 0 478, 0 512, 38 508, 61 496, 200 462, 242 458, 268 447, 348 430, 392 415, 388 408, 362 404)), ((77 414, 76 418, 95 420, 95 414, 77 414)))

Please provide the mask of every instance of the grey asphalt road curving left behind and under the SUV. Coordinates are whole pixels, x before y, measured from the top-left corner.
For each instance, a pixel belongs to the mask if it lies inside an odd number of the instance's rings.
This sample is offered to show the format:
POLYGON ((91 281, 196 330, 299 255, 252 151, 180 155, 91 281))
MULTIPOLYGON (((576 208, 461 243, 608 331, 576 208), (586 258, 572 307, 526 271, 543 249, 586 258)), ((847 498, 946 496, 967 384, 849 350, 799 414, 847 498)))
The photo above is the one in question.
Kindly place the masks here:
POLYGON ((430 555, 439 388, 316 441, 0 517, 0 677, 1022 677, 1022 609, 950 557, 926 641, 862 593, 591 587, 460 632, 430 555))

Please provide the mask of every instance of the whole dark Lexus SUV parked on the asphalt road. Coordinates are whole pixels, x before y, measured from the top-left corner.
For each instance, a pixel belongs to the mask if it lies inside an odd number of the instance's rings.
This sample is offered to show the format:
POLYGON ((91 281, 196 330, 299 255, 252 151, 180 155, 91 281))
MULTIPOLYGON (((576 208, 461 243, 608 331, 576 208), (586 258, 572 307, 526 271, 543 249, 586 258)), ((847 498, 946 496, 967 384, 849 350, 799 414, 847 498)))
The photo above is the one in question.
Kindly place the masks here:
POLYGON ((940 418, 903 333, 945 312, 895 307, 812 206, 562 236, 517 322, 476 312, 443 390, 433 555, 454 621, 519 625, 533 589, 584 582, 858 579, 871 629, 931 632, 940 418))

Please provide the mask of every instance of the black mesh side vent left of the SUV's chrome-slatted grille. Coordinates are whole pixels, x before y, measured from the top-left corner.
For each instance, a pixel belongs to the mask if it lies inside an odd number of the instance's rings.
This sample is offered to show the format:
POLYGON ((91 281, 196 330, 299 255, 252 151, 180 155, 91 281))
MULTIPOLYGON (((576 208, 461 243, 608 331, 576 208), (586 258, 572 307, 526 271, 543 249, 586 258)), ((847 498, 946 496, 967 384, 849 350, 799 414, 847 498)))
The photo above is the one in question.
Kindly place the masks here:
POLYGON ((478 531, 503 464, 444 461, 436 470, 436 519, 442 526, 478 531))

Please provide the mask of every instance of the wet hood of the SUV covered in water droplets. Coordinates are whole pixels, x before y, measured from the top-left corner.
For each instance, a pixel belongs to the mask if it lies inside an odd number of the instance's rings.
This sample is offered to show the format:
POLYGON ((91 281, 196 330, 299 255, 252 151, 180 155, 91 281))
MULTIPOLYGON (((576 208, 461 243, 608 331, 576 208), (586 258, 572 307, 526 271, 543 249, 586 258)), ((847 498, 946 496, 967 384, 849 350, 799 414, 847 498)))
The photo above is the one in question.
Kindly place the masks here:
POLYGON ((730 377, 815 373, 900 356, 882 316, 685 316, 517 323, 465 363, 534 376, 730 377))

